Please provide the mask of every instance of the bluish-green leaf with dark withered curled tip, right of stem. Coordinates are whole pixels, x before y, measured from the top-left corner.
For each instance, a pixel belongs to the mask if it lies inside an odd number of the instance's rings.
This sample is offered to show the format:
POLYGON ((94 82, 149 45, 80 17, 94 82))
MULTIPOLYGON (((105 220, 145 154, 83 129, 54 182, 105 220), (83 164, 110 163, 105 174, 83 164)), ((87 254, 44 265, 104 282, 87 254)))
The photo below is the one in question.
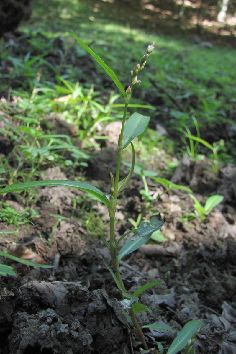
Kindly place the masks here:
POLYGON ((144 245, 151 237, 154 231, 160 230, 163 225, 163 220, 158 215, 152 215, 149 221, 144 220, 138 227, 137 231, 121 248, 118 259, 127 256, 129 253, 137 250, 140 246, 144 245))

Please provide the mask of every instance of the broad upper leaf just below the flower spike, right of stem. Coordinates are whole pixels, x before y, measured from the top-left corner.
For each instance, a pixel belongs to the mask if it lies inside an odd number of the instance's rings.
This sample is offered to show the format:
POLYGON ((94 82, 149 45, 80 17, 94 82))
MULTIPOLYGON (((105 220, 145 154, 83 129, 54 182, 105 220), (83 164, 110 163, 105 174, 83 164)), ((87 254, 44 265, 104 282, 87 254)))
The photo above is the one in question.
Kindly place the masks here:
POLYGON ((141 135, 148 126, 150 117, 139 113, 133 113, 124 127, 125 143, 123 149, 137 136, 141 135))

